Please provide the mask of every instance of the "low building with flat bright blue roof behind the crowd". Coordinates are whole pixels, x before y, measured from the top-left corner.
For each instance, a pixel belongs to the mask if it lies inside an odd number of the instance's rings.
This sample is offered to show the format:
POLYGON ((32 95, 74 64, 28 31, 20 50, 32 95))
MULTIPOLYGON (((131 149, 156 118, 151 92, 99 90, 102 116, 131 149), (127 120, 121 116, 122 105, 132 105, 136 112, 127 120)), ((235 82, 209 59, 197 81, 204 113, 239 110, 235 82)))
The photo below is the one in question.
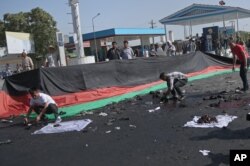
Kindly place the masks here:
MULTIPOLYGON (((89 42, 90 49, 85 48, 86 55, 95 55, 98 52, 100 59, 105 59, 107 49, 111 43, 116 41, 118 47, 123 47, 123 41, 129 41, 131 47, 150 46, 158 38, 157 42, 164 43, 165 30, 163 28, 112 28, 102 31, 83 34, 84 43, 89 42), (96 51, 97 49, 97 51, 96 51)), ((74 38, 70 37, 69 42, 74 43, 74 38)), ((71 47, 72 48, 72 47, 71 47)))

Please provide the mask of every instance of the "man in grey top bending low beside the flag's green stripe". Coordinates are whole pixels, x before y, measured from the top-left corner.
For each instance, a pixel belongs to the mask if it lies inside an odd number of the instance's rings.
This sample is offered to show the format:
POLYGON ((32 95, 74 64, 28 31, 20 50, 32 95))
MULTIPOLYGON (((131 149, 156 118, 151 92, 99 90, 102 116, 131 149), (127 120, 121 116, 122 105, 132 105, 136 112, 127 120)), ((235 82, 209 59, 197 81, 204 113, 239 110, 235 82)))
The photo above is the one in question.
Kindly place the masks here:
POLYGON ((168 90, 165 93, 165 97, 167 97, 171 93, 175 100, 184 99, 184 94, 181 91, 180 87, 183 87, 188 82, 188 78, 185 74, 181 72, 172 72, 165 74, 163 72, 160 74, 160 79, 167 82, 168 90))

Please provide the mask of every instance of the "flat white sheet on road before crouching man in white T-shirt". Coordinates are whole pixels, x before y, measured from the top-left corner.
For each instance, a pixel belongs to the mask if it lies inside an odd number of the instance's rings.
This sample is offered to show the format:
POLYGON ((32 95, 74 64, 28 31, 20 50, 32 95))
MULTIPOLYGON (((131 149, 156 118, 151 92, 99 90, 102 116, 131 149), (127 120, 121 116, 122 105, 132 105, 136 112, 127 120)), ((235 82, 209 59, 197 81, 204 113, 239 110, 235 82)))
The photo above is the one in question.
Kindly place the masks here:
POLYGON ((40 130, 36 130, 32 134, 51 134, 51 133, 63 133, 69 131, 81 131, 91 122, 92 120, 90 119, 61 122, 59 123, 58 127, 54 127, 55 123, 49 123, 47 126, 44 126, 40 130))

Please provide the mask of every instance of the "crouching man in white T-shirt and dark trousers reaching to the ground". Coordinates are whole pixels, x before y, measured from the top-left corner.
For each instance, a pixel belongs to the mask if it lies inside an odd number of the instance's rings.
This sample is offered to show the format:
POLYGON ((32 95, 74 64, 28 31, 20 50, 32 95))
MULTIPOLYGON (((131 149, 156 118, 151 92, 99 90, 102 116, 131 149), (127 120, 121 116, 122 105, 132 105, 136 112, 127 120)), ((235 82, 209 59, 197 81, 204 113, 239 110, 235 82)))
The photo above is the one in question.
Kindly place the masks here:
POLYGON ((41 93, 38 88, 31 88, 29 90, 31 95, 30 108, 24 118, 26 124, 29 123, 29 116, 32 111, 35 111, 37 114, 36 122, 45 121, 45 114, 54 114, 55 123, 60 123, 62 121, 61 117, 58 116, 58 107, 56 102, 47 94, 41 93))

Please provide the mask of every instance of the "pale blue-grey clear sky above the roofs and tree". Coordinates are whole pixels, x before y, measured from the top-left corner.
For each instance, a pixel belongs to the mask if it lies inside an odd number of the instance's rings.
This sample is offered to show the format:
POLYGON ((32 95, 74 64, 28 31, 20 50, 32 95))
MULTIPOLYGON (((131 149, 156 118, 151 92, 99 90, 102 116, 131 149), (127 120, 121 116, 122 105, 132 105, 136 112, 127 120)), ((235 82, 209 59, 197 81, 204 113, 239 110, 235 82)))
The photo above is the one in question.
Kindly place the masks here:
MULTIPOLYGON (((249 0, 224 0, 227 6, 237 6, 250 10, 249 0)), ((153 19, 157 28, 163 28, 159 20, 193 3, 217 5, 219 0, 79 0, 82 33, 92 32, 92 18, 95 29, 147 28, 153 19)), ((66 35, 73 32, 71 10, 68 0, 1 0, 0 20, 5 13, 27 12, 40 7, 50 13, 57 22, 57 28, 66 35)), ((240 20, 240 30, 250 31, 250 19, 240 20)), ((221 24, 216 24, 220 25, 221 24)), ((229 25, 229 23, 226 23, 229 25)), ((211 25, 208 25, 211 26, 211 25)), ((200 33, 203 26, 193 28, 200 33)), ((183 28, 168 26, 175 39, 183 38, 183 28)))

